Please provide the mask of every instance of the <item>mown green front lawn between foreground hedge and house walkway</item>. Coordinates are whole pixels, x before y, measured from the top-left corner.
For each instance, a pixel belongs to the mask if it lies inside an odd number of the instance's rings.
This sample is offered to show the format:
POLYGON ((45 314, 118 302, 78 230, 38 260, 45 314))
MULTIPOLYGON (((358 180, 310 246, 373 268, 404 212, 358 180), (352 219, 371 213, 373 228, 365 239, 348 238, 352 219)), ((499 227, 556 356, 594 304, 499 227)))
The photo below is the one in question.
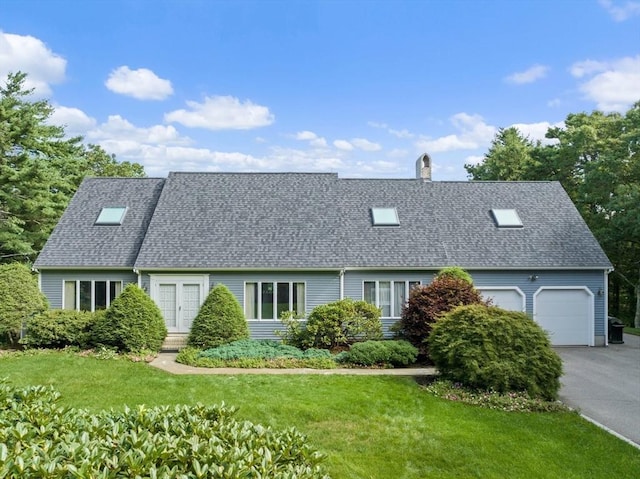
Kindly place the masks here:
POLYGON ((308 436, 333 478, 636 478, 638 450, 575 413, 507 413, 439 399, 410 378, 173 376, 68 353, 0 357, 15 385, 53 385, 99 410, 196 402, 308 436))

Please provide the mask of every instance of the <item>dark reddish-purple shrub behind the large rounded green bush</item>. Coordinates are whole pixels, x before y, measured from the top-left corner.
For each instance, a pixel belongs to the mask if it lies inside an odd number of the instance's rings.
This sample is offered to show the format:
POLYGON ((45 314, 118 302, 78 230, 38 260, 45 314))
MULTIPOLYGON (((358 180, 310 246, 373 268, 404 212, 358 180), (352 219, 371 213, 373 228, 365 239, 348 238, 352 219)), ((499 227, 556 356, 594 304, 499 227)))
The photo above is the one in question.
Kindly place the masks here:
POLYGON ((426 286, 415 287, 395 326, 398 335, 427 353, 425 340, 437 319, 452 309, 468 304, 486 304, 473 284, 454 274, 442 273, 426 286))

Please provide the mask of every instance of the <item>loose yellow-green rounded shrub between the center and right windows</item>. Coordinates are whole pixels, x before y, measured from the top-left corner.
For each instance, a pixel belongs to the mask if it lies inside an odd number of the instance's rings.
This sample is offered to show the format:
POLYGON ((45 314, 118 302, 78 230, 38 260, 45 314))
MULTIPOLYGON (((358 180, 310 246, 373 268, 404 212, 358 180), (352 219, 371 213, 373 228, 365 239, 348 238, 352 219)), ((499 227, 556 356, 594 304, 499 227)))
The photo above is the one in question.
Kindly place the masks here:
POLYGON ((365 301, 345 298, 313 308, 296 346, 335 349, 380 338, 380 309, 365 301))

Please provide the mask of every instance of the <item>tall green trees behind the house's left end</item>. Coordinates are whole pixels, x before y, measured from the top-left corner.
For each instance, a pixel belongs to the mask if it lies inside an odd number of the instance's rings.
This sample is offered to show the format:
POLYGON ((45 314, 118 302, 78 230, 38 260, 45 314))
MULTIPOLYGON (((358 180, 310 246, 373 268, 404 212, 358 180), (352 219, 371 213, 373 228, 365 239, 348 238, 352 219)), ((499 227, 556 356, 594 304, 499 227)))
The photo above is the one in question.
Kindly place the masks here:
POLYGON ((145 176, 98 145, 52 125, 53 106, 35 100, 27 75, 0 86, 0 263, 33 262, 86 176, 145 176))

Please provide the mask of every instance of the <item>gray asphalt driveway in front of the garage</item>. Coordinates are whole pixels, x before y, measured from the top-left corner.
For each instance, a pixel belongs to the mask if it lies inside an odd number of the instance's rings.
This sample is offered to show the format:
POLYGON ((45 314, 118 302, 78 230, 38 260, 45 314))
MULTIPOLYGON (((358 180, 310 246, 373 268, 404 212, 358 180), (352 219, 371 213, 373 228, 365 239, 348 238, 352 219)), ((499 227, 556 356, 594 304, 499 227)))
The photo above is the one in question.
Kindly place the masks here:
POLYGON ((640 336, 606 348, 555 348, 564 375, 560 399, 640 447, 640 336))

